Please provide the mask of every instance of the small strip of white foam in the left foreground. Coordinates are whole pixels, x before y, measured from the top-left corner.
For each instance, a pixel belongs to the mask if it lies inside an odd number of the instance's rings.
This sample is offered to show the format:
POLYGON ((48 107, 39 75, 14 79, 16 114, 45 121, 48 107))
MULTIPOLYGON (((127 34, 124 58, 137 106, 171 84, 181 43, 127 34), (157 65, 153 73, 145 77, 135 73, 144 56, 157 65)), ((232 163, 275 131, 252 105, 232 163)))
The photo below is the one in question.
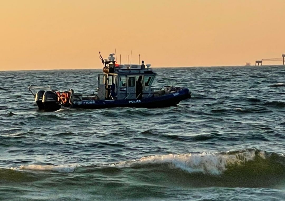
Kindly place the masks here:
POLYGON ((21 165, 20 169, 56 171, 56 172, 73 172, 75 168, 80 167, 78 164, 69 165, 21 165))

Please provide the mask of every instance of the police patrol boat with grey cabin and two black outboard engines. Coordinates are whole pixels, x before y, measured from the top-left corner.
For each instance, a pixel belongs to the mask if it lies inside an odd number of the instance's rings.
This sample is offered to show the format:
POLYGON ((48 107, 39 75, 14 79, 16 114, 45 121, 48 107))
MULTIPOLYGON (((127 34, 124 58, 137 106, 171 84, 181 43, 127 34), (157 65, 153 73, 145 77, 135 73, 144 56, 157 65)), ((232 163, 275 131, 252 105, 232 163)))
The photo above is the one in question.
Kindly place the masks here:
POLYGON ((56 111, 61 108, 102 109, 109 107, 158 108, 176 106, 191 97, 188 88, 164 86, 152 88, 156 76, 150 64, 117 64, 115 54, 100 59, 103 73, 98 75, 97 94, 74 93, 72 89, 60 92, 50 87, 29 86, 39 110, 56 111), (33 90, 38 91, 34 94, 33 90))

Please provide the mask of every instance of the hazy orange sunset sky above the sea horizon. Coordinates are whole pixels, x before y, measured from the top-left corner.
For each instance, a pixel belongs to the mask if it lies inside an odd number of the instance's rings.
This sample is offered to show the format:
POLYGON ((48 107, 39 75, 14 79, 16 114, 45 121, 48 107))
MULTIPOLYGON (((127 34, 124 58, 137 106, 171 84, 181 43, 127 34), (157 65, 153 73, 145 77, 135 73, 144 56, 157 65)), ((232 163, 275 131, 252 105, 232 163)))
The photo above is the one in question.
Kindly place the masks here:
POLYGON ((285 53, 284 0, 9 0, 0 25, 0 70, 101 68, 98 52, 115 48, 122 63, 132 50, 153 67, 285 53))

